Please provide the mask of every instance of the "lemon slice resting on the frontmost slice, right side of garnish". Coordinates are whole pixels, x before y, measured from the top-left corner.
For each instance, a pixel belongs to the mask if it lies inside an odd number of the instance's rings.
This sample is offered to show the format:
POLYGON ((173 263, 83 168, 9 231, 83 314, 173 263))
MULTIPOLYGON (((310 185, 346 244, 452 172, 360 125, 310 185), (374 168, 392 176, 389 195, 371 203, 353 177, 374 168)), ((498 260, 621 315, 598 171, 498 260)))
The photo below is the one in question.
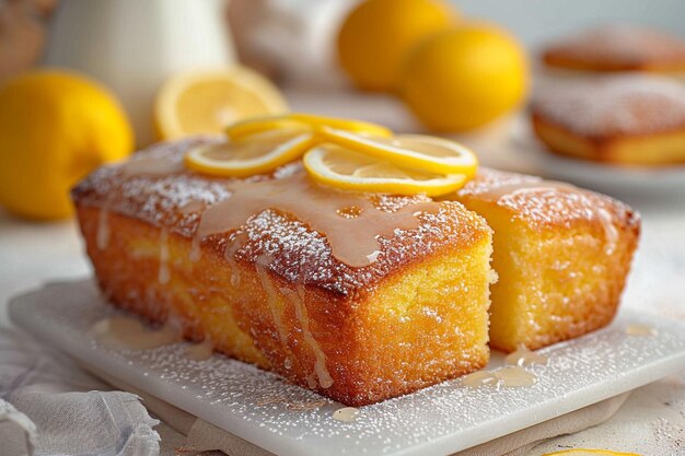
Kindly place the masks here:
POLYGON ((367 137, 328 127, 322 128, 320 135, 329 142, 399 166, 467 177, 473 177, 478 167, 478 159, 471 150, 446 139, 421 135, 367 137))

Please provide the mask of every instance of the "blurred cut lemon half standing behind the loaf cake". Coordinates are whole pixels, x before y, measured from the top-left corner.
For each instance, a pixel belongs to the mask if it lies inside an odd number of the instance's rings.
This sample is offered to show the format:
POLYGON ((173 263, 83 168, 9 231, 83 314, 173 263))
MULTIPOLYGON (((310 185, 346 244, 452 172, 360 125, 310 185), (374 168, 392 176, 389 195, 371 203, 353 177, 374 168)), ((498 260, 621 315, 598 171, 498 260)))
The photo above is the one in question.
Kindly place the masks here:
POLYGON ((223 133, 248 117, 286 113, 278 89, 244 67, 176 74, 158 93, 154 115, 162 139, 223 133))

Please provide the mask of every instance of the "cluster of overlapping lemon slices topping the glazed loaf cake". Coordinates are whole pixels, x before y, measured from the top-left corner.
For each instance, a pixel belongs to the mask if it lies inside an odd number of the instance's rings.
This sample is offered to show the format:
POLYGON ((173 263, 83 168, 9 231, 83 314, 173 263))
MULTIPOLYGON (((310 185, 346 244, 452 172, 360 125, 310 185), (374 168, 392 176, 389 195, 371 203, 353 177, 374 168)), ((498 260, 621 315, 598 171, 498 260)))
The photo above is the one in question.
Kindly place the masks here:
POLYGON ((189 168, 216 176, 269 173, 304 154, 310 176, 355 191, 440 196, 475 175, 473 152, 445 139, 405 135, 363 121, 307 114, 269 116, 228 128, 229 141, 186 154, 189 168))

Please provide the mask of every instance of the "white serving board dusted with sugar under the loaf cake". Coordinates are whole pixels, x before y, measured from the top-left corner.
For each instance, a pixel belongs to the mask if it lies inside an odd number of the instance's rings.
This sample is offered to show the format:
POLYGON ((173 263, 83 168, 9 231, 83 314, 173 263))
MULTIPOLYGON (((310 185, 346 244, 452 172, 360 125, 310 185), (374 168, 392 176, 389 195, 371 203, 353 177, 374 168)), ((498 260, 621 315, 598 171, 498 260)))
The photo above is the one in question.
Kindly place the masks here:
MULTIPOLYGON (((187 343, 103 347, 90 329, 117 312, 91 280, 49 284, 10 303, 19 326, 84 365, 279 455, 448 455, 685 370, 685 326, 624 313, 606 329, 541 350, 548 364, 526 367, 534 386, 472 388, 455 379, 362 407, 345 423, 332 418, 339 404, 219 354, 190 360, 187 343), (655 334, 628 335, 635 324, 655 334)), ((496 353, 489 367, 501 360, 496 353)))

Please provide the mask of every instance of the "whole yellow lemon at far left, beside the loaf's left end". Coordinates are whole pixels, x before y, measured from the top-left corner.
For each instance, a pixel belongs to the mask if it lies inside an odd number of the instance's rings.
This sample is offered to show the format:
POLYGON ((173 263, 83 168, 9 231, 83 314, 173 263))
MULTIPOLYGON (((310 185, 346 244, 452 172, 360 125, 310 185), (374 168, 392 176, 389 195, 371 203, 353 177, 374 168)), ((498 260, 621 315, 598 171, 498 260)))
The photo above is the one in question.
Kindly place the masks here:
POLYGON ((0 86, 0 204, 39 220, 70 215, 69 189, 133 147, 128 119, 104 87, 54 70, 0 86))

